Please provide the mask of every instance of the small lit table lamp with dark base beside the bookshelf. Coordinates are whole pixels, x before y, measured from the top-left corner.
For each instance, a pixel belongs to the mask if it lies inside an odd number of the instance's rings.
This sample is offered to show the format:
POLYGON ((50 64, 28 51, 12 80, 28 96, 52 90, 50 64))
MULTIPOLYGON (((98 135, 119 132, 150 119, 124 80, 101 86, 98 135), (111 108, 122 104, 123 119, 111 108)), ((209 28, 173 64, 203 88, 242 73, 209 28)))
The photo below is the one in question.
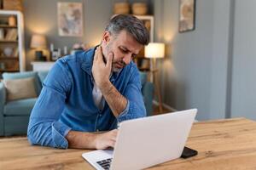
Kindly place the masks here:
POLYGON ((46 57, 43 55, 43 51, 42 51, 42 49, 47 48, 47 42, 44 35, 38 35, 38 34, 32 35, 30 47, 36 49, 36 52, 35 52, 36 60, 46 60, 46 57))

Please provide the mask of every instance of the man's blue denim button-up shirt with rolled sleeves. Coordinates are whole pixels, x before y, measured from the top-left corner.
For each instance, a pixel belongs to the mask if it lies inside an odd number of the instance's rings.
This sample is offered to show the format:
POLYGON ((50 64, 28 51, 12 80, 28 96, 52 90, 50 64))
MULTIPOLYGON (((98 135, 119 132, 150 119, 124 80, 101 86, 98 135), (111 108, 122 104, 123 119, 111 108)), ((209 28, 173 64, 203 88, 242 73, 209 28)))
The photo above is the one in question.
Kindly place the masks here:
POLYGON ((30 116, 27 138, 31 144, 67 148, 70 130, 108 131, 117 122, 146 116, 137 66, 131 62, 110 82, 128 100, 125 111, 113 116, 108 103, 99 110, 94 104, 91 67, 95 48, 58 59, 44 80, 43 89, 30 116))

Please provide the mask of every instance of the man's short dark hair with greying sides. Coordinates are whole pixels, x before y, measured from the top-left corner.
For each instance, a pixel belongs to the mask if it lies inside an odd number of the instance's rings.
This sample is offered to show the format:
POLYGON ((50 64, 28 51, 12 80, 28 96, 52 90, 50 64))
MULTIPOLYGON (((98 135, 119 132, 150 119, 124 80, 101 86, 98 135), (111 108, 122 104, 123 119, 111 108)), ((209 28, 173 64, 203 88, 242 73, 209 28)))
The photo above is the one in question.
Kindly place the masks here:
POLYGON ((138 20, 137 17, 128 14, 115 15, 105 29, 113 35, 118 35, 122 30, 128 31, 140 44, 148 45, 148 30, 143 25, 143 21, 138 20))

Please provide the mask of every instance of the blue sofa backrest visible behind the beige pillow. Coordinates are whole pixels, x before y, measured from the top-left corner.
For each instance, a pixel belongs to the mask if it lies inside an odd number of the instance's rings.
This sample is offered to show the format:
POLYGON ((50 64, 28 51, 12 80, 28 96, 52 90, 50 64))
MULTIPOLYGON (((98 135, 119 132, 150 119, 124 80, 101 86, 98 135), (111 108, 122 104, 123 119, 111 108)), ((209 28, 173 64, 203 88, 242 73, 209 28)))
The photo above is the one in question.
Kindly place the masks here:
POLYGON ((15 73, 9 73, 5 72, 3 73, 3 79, 9 80, 9 79, 20 79, 20 78, 28 78, 28 77, 34 77, 35 81, 35 88, 36 92, 39 95, 42 89, 41 82, 38 78, 38 73, 35 71, 26 71, 26 72, 15 72, 15 73))

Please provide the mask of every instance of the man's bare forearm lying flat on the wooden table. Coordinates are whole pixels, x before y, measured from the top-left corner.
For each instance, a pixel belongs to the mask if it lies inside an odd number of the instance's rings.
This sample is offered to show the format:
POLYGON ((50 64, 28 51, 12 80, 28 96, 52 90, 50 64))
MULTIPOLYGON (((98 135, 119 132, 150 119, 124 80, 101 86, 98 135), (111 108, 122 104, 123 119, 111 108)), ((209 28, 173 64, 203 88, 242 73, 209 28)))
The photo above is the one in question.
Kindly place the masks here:
POLYGON ((95 149, 96 133, 84 133, 78 131, 69 131, 66 139, 69 148, 77 149, 95 149))

